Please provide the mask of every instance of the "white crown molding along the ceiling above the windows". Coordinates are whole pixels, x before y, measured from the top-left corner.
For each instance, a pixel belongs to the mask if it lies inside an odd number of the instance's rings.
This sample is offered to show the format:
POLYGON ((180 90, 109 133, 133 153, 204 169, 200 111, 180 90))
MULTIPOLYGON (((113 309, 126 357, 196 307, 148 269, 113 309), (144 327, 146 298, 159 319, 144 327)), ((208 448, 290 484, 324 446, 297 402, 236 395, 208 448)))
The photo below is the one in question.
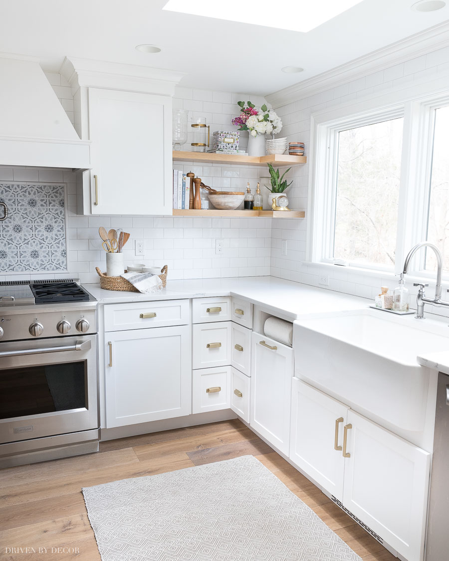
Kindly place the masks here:
POLYGON ((449 21, 265 96, 276 109, 449 45, 449 21))

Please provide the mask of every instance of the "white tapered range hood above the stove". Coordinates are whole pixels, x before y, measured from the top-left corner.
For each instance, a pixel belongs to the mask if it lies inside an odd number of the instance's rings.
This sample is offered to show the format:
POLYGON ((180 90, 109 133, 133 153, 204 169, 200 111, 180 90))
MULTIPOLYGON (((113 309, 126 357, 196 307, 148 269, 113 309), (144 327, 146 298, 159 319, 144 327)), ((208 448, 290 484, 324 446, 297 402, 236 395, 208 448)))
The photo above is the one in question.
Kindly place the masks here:
POLYGON ((90 167, 80 140, 39 61, 0 53, 0 165, 90 167))

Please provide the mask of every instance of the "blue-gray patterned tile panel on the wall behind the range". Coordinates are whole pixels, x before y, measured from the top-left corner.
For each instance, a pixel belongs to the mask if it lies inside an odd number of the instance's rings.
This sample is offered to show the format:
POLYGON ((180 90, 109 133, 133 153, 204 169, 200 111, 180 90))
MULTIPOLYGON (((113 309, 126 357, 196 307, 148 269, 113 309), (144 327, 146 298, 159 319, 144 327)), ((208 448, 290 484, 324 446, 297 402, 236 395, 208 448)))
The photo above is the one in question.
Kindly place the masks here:
POLYGON ((65 186, 0 183, 0 272, 67 270, 65 186))

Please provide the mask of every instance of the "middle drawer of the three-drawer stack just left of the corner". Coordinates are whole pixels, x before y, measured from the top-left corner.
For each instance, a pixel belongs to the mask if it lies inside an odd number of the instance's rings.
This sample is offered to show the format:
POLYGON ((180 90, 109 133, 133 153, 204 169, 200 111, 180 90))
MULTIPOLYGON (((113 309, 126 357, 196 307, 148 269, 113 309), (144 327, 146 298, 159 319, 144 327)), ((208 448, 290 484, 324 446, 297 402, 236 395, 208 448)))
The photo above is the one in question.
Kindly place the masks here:
POLYGON ((193 368, 231 364, 231 322, 196 324, 193 329, 193 368))

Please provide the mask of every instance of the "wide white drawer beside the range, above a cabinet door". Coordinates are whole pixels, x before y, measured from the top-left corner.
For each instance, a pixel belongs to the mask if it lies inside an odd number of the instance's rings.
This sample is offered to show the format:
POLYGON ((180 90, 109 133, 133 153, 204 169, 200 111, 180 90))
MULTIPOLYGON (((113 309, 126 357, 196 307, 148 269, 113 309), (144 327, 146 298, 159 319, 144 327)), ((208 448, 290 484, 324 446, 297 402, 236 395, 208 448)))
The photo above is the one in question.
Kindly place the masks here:
POLYGON ((104 306, 104 330, 171 327, 189 323, 189 300, 130 302, 104 306))

